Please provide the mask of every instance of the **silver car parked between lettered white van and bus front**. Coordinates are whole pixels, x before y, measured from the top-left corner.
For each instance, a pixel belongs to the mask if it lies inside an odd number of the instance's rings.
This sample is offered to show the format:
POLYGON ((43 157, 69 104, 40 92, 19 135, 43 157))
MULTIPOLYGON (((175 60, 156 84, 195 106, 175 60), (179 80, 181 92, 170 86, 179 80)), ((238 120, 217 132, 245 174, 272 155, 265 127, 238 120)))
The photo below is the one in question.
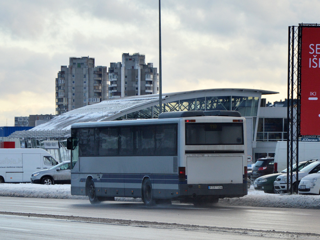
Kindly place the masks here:
POLYGON ((63 184, 71 182, 71 169, 70 169, 70 161, 64 161, 54 167, 42 170, 38 172, 34 172, 31 175, 31 183, 38 184, 63 184))

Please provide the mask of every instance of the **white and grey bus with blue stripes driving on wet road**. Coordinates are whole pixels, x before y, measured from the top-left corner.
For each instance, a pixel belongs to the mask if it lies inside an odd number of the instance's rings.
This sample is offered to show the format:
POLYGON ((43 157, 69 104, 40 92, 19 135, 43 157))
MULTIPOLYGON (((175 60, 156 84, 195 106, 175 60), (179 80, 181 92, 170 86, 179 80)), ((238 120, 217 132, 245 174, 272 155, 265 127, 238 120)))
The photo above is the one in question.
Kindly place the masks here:
POLYGON ((133 197, 150 206, 247 195, 245 131, 235 111, 72 124, 71 194, 92 204, 133 197))

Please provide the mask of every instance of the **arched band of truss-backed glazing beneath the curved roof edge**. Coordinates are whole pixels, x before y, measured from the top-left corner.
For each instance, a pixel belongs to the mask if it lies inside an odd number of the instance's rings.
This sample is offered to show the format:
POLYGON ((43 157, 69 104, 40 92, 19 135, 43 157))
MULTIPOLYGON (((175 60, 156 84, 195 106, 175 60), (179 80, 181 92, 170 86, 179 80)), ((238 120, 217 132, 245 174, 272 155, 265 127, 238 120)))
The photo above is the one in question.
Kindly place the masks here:
MULTIPOLYGON (((248 96, 213 96, 192 99, 181 99, 162 104, 163 112, 172 111, 212 111, 212 110, 234 110, 239 111, 241 116, 257 116, 259 97, 248 96)), ((157 118, 159 105, 144 108, 139 111, 127 113, 115 120, 134 118, 157 118)))

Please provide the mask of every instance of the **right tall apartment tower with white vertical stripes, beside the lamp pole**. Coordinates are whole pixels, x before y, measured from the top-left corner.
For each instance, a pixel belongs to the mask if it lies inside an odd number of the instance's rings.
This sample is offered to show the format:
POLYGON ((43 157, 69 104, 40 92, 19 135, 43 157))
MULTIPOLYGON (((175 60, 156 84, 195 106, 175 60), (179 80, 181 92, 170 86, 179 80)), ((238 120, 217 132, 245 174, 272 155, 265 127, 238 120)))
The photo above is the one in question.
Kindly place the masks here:
POLYGON ((145 55, 123 53, 122 62, 109 67, 109 98, 145 95, 159 92, 159 75, 145 55))

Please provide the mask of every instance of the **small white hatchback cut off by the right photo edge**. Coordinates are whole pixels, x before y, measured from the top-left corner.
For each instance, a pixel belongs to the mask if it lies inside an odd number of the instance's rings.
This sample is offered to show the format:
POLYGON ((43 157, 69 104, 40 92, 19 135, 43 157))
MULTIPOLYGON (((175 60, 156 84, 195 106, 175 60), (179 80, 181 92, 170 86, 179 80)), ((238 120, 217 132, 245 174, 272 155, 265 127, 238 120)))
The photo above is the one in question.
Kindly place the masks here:
POLYGON ((299 183, 299 194, 320 194, 320 171, 303 177, 299 183))

